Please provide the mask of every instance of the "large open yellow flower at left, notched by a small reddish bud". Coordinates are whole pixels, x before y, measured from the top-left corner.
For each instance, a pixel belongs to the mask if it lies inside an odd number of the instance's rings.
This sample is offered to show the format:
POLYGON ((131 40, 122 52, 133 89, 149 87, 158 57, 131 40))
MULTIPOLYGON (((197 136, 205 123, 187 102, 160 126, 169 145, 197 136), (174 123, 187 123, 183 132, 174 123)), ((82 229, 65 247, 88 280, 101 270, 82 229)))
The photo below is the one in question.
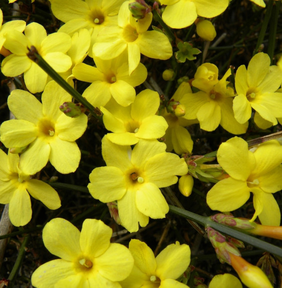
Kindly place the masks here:
POLYGON ((42 94, 42 104, 29 92, 14 90, 8 98, 16 120, 0 127, 1 141, 8 148, 27 147, 21 154, 20 169, 33 175, 50 160, 60 173, 74 172, 80 161, 75 142, 87 127, 87 116, 67 117, 59 106, 72 97, 54 81, 42 94))

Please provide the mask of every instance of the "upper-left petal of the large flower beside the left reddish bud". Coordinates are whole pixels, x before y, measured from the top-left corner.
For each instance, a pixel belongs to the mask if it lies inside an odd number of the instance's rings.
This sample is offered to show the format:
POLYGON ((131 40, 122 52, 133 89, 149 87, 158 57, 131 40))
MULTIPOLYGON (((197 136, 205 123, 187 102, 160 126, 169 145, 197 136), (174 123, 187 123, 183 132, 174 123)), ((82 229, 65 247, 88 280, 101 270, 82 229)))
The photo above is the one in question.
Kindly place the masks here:
POLYGON ((37 124, 43 117, 42 104, 34 95, 25 90, 13 90, 8 97, 8 106, 17 119, 37 124))

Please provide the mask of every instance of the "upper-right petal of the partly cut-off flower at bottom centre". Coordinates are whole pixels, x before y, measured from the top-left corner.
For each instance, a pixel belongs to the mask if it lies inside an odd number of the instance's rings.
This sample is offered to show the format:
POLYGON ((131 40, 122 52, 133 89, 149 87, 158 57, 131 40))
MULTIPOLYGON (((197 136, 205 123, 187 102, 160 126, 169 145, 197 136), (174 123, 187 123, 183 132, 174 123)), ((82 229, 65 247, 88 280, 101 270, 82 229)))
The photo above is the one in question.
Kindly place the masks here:
POLYGON ((177 241, 164 248, 156 257, 157 274, 163 278, 177 279, 190 264, 191 251, 188 245, 177 241))

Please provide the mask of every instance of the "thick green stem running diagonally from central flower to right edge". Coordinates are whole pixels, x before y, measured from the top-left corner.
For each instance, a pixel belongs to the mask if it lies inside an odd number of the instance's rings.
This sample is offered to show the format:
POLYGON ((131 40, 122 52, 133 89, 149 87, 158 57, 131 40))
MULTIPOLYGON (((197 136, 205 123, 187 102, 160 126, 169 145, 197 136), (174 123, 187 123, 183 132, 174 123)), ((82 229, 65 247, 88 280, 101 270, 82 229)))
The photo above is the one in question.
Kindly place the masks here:
POLYGON ((225 226, 225 225, 220 224, 220 223, 216 223, 216 222, 212 221, 210 219, 210 217, 203 217, 203 216, 194 214, 190 211, 187 211, 187 210, 184 210, 184 209, 172 206, 172 205, 169 205, 169 211, 176 214, 176 215, 179 215, 181 217, 195 221, 195 222, 197 222, 197 223, 199 223, 205 227, 206 226, 212 227, 213 229, 215 229, 215 230, 217 230, 223 234, 227 234, 227 235, 234 237, 236 239, 239 239, 243 242, 249 243, 250 245, 255 246, 255 247, 262 249, 264 251, 267 251, 269 253, 275 254, 275 255, 280 256, 280 257, 282 256, 282 248, 277 247, 275 245, 272 245, 270 243, 264 242, 260 239, 253 237, 253 236, 250 236, 248 234, 245 234, 243 232, 235 230, 231 227, 225 226))

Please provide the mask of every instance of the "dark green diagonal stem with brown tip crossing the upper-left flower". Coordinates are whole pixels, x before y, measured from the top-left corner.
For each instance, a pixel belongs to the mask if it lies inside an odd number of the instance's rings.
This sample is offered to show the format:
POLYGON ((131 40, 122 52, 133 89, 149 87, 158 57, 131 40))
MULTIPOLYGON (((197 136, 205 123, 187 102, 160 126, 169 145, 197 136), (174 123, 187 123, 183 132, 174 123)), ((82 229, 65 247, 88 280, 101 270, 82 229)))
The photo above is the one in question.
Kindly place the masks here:
POLYGON ((72 95, 78 102, 83 104, 89 112, 98 120, 101 120, 97 115, 97 111, 84 97, 82 97, 71 85, 69 85, 36 51, 36 48, 32 46, 28 57, 40 66, 53 80, 55 80, 63 89, 72 95))

